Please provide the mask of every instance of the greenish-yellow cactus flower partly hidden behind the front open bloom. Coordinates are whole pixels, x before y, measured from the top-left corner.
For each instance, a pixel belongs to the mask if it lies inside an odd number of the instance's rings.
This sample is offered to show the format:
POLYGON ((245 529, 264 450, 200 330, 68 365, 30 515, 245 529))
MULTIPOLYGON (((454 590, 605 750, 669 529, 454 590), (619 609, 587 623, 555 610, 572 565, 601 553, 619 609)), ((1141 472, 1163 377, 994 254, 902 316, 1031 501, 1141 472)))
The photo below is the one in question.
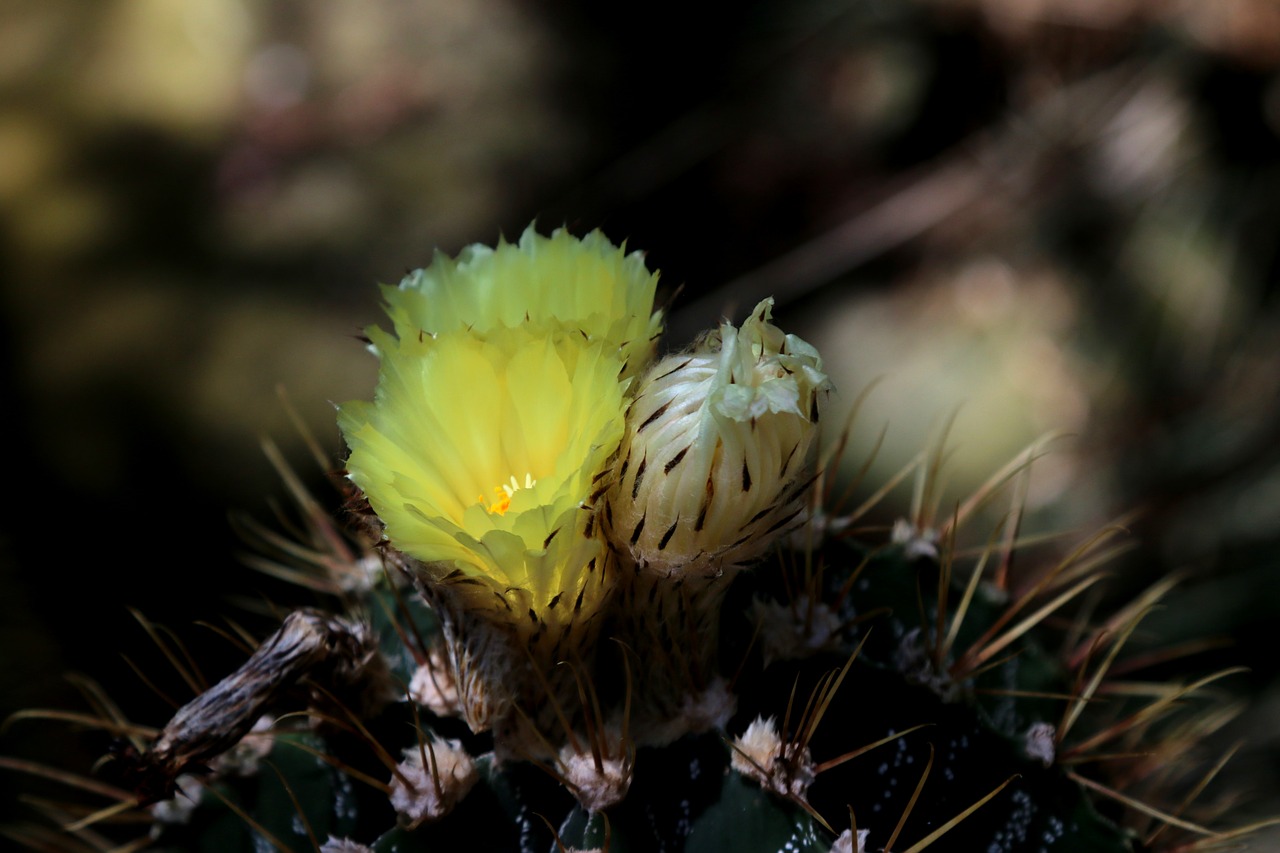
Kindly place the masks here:
POLYGON ((640 252, 627 254, 599 231, 581 240, 563 228, 543 237, 530 225, 515 245, 467 246, 456 260, 436 252, 429 268, 384 287, 383 296, 402 338, 568 330, 616 347, 626 378, 644 370, 662 333, 657 284, 640 252))

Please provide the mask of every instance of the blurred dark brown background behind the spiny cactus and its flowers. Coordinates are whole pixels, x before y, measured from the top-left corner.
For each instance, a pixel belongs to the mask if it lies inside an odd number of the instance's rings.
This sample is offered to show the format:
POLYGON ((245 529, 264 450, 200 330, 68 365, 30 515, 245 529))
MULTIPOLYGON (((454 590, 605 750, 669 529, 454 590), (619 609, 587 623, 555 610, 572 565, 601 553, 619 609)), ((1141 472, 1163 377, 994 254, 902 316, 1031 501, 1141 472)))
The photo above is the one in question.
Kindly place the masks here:
MULTIPOLYGON (((278 388, 337 459, 374 283, 536 220, 684 286, 672 347, 773 295, 842 400, 883 378, 855 441, 890 424, 873 482, 956 407, 956 494, 1070 433, 1038 525, 1142 511, 1114 594, 1187 571, 1144 629, 1233 640, 1187 666, 1252 667, 1222 738, 1276 811, 1280 4, 703 10, 5 4, 0 717, 83 707, 78 671, 163 722, 120 657, 163 680, 128 607, 233 666, 193 622, 265 630, 300 597, 236 556, 228 512, 283 496, 261 437, 328 493, 278 388)), ((87 766, 101 744, 64 733, 22 722, 0 753, 87 766)), ((0 817, 27 786, 0 774, 0 817)))

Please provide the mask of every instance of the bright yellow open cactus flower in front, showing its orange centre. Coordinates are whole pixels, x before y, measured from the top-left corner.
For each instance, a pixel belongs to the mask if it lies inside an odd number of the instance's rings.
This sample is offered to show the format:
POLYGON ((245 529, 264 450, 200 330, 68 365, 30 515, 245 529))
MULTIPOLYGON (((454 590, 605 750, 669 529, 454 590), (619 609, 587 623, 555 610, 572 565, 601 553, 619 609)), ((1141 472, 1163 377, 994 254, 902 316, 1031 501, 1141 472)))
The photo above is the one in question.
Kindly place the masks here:
POLYGON ((616 348, 520 328, 370 337, 374 401, 343 405, 339 425, 392 544, 431 580, 486 581, 486 608, 493 590, 521 613, 576 596, 604 551, 584 502, 623 432, 616 348))

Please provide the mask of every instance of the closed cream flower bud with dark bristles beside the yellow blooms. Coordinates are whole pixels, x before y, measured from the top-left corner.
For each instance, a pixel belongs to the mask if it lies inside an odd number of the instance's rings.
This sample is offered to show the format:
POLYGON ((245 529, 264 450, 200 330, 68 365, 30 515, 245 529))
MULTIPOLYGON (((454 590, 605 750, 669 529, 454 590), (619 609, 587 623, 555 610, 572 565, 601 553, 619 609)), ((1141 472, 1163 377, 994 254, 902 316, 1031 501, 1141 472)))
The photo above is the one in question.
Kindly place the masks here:
POLYGON ((817 350, 771 323, 772 306, 641 380, 605 508, 614 548, 637 567, 719 576, 796 519, 829 382, 817 350))

